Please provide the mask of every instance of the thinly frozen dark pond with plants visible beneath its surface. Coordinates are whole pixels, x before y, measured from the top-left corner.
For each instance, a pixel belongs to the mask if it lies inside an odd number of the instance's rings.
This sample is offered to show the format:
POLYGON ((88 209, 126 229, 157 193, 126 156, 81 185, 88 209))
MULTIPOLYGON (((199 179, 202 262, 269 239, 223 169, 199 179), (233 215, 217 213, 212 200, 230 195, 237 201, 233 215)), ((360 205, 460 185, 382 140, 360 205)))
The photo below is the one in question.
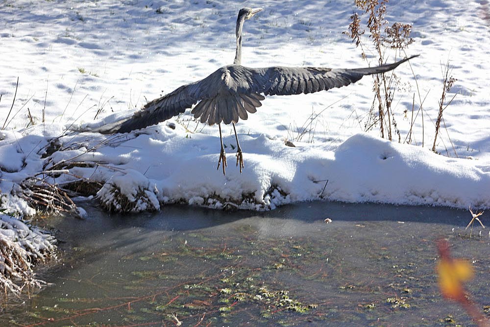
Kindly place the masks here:
POLYGON ((85 208, 84 220, 48 222, 65 242, 63 264, 40 273, 50 286, 4 307, 0 326, 475 326, 439 293, 440 236, 472 261, 468 291, 489 310, 489 232, 475 225, 470 237, 468 211, 339 202, 260 213, 85 208))

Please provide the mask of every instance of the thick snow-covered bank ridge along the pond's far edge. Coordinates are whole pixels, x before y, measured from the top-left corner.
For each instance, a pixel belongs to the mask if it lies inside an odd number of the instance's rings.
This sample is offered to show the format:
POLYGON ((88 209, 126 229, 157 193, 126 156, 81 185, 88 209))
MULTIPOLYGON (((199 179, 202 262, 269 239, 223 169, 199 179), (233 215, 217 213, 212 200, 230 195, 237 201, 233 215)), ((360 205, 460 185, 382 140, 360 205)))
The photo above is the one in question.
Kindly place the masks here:
MULTIPOLYGON (((365 133, 336 147, 302 142, 291 147, 282 139, 250 134, 242 135, 245 169, 240 174, 231 150, 234 136, 227 135, 230 165, 223 176, 221 168, 216 169, 219 137, 174 126, 162 124, 124 135, 64 136, 49 156, 48 142, 37 141, 45 132, 34 127, 15 140, 29 149, 30 159, 22 160, 17 152, 16 159, 24 162, 25 176, 44 167, 43 180, 50 185, 98 182, 93 194, 116 211, 155 210, 165 203, 264 210, 317 199, 490 207, 490 170, 478 160, 448 158, 365 133), (50 169, 54 174, 48 174, 50 169)), ((4 173, 13 185, 25 176, 4 173)))

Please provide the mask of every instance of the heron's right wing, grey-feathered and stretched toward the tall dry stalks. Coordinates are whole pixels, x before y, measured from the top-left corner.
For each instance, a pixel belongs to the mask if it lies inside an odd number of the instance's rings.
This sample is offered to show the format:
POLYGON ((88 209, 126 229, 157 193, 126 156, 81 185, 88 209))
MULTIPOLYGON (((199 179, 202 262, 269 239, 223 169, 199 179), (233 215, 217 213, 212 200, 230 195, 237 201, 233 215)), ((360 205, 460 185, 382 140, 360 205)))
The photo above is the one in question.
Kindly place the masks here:
POLYGON ((330 69, 321 67, 268 67, 250 69, 250 89, 264 95, 293 95, 314 93, 354 83, 364 75, 391 71, 406 58, 389 65, 356 69, 330 69))

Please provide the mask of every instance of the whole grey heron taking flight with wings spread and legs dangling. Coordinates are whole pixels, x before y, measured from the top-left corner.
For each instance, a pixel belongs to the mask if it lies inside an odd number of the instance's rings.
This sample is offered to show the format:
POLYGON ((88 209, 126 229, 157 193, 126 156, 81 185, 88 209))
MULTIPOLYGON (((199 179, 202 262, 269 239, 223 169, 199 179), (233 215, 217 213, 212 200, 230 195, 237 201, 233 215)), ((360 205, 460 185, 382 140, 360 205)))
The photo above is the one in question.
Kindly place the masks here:
POLYGON ((242 148, 238 142, 235 124, 246 120, 262 105, 260 101, 268 95, 308 94, 342 87, 354 83, 364 75, 388 72, 399 64, 415 57, 372 68, 330 69, 323 67, 266 67, 249 68, 242 66, 242 29, 246 20, 252 18, 262 8, 242 8, 238 12, 236 36, 237 49, 232 65, 219 68, 211 75, 194 83, 182 85, 176 90, 145 104, 142 110, 131 117, 102 126, 102 133, 126 133, 135 129, 155 125, 177 116, 196 106, 191 113, 201 123, 218 124, 221 151, 218 169, 222 163, 225 174, 226 154, 221 135, 221 123, 232 124, 237 140, 237 166, 240 173, 244 168, 242 148))

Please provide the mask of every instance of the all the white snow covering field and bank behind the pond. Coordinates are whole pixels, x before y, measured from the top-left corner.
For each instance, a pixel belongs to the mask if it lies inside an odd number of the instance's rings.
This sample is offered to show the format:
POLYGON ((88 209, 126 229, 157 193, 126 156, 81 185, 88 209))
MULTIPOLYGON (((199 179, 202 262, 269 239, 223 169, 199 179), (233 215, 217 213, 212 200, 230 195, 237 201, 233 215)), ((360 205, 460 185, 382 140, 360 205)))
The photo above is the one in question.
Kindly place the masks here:
MULTIPOLYGON (((126 135, 67 131, 110 122, 232 63, 236 15, 243 6, 264 7, 245 23, 245 66, 368 65, 342 34, 355 11, 351 0, 306 5, 299 0, 1 0, 2 206, 32 214, 16 195, 19 184, 36 174, 46 177, 40 173, 54 166, 65 170, 49 182, 83 177, 105 183, 98 197, 113 209, 123 209, 115 201, 118 193, 133 210, 172 202, 270 209, 319 198, 490 207, 486 1, 392 0, 387 5, 390 22, 413 25, 415 42, 407 54, 420 54, 396 69, 403 83, 394 101, 402 143, 414 95, 416 112, 419 98, 425 98, 411 145, 380 139, 377 126, 365 131, 371 77, 328 92, 268 97, 237 125, 243 174, 234 167, 231 126, 223 126, 228 153, 223 176, 216 170, 217 126, 198 124, 190 113, 126 135), (456 98, 444 111, 447 128, 441 130, 438 155, 429 149, 448 60, 458 80, 447 95, 456 98), (49 147, 54 138, 56 146, 49 147)), ((396 59, 392 55, 388 62, 396 59)))

